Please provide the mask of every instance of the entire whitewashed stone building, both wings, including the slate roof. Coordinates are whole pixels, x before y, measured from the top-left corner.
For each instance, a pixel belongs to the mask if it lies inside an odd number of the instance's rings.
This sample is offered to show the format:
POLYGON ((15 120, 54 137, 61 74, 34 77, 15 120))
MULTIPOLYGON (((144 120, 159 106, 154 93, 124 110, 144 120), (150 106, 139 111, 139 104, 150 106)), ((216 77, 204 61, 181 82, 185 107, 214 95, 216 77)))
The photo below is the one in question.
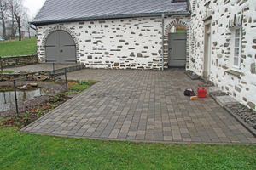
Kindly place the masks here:
POLYGON ((255 109, 255 10, 255 0, 46 0, 32 24, 41 62, 185 67, 255 109))

